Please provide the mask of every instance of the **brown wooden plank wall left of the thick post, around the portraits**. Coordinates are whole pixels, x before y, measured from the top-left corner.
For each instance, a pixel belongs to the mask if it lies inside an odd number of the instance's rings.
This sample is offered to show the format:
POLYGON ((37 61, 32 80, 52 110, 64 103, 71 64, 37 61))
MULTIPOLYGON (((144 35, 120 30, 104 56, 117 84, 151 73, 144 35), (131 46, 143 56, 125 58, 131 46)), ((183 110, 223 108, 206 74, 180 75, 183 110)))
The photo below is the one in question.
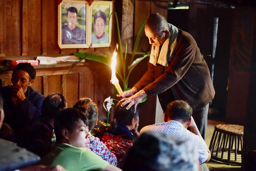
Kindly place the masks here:
MULTIPOLYGON (((113 0, 113 11, 118 7, 113 0)), ((36 56, 66 56, 73 52, 112 53, 116 45, 116 21, 112 20, 110 47, 60 49, 58 46, 57 0, 0 0, 0 64, 3 60, 35 60, 36 56)), ((72 64, 35 66, 37 74, 32 87, 47 96, 60 93, 61 83, 72 64)), ((1 71, 2 86, 10 85, 12 71, 1 71)), ((102 105, 108 96, 114 96, 109 82, 111 70, 99 62, 87 61, 73 68, 64 84, 63 95, 68 107, 82 97, 93 98, 99 104, 99 120, 105 121, 102 105)))

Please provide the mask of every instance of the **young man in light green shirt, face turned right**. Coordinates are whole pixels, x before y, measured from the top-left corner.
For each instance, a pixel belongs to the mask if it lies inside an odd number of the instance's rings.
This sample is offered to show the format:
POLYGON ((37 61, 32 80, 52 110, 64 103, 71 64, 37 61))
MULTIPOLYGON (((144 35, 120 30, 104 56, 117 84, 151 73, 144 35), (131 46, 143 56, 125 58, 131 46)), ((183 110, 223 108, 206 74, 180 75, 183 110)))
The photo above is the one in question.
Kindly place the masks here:
MULTIPOLYGON (((54 119, 56 143, 53 151, 45 155, 40 164, 61 165, 68 171, 117 170, 120 169, 90 152, 90 133, 88 118, 80 110, 68 108, 61 110, 54 119)), ((121 171, 121 170, 120 170, 121 171)))

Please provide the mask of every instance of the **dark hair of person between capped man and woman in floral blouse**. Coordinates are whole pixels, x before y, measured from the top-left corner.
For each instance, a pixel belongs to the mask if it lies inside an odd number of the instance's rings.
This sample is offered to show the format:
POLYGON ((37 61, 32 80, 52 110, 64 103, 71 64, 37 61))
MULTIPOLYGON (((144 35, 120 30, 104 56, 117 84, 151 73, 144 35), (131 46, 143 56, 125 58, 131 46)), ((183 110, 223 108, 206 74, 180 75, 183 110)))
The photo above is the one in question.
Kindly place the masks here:
POLYGON ((54 119, 58 111, 66 107, 67 102, 64 96, 58 93, 52 93, 42 103, 42 116, 45 116, 48 120, 54 119))

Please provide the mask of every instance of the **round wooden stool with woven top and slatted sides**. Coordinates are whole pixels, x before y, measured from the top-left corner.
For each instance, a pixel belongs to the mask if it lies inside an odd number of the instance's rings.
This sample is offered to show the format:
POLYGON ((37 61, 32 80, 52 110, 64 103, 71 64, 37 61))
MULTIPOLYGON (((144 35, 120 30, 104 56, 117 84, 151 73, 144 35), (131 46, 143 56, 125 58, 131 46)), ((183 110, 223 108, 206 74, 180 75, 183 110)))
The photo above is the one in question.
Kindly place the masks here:
POLYGON ((241 159, 241 152, 243 148, 243 135, 244 127, 241 125, 215 125, 214 133, 212 135, 211 143, 209 146, 209 150, 211 152, 211 159, 221 161, 226 164, 241 165, 241 160, 238 161, 237 157, 241 159), (234 144, 235 147, 233 149, 234 144), (223 158, 224 154, 226 156, 226 153, 227 158, 223 158), (230 159, 230 155, 233 153, 235 154, 235 158, 230 159))

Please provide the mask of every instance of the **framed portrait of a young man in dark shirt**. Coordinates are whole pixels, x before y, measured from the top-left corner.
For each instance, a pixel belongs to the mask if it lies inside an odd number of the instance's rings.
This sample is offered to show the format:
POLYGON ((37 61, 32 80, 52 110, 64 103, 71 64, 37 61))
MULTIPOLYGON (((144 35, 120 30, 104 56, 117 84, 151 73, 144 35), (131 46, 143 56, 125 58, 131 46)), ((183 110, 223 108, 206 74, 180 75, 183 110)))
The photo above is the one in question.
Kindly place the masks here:
POLYGON ((83 0, 63 0, 58 5, 58 44, 60 48, 89 47, 89 5, 83 0))

